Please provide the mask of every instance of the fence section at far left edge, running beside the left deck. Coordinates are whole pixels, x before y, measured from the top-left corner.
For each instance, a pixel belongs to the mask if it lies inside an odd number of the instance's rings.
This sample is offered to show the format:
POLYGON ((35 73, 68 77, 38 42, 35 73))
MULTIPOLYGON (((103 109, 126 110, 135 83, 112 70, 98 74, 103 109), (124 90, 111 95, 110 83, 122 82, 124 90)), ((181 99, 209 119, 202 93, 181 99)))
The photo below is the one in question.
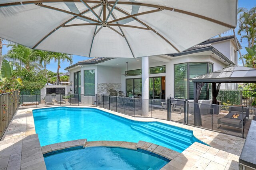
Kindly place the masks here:
POLYGON ((0 94, 0 140, 18 109, 19 91, 0 94))

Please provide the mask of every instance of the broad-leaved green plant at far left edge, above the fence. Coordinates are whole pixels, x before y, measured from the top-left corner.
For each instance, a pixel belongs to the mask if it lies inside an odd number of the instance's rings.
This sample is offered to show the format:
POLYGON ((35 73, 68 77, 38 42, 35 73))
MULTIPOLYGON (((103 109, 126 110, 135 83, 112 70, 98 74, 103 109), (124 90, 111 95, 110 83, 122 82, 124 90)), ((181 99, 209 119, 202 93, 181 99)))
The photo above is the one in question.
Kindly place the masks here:
POLYGON ((10 61, 3 60, 0 72, 0 90, 1 92, 10 92, 17 90, 22 85, 21 78, 12 76, 13 64, 10 61))

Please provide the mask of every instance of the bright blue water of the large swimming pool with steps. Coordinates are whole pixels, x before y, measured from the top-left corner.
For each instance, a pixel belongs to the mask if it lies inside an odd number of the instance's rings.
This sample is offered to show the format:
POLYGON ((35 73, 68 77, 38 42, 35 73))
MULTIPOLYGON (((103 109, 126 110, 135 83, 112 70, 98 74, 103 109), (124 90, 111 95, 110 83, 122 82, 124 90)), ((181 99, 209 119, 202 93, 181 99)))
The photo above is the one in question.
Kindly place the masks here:
POLYGON ((64 141, 147 141, 182 152, 195 141, 193 131, 158 122, 132 121, 94 108, 33 110, 41 146, 64 141))

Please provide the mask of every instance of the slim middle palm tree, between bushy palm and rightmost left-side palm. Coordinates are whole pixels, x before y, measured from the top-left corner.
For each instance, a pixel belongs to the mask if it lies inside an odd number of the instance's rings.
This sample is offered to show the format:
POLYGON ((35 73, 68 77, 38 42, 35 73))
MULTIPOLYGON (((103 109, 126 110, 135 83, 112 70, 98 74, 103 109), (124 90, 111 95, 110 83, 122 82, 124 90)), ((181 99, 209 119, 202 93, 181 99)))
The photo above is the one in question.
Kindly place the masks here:
POLYGON ((52 52, 36 50, 34 53, 39 58, 39 63, 42 66, 44 66, 45 77, 46 77, 47 85, 48 85, 48 76, 47 76, 46 64, 50 64, 50 57, 52 55, 52 52), (43 63, 44 63, 44 65, 43 65, 43 63))

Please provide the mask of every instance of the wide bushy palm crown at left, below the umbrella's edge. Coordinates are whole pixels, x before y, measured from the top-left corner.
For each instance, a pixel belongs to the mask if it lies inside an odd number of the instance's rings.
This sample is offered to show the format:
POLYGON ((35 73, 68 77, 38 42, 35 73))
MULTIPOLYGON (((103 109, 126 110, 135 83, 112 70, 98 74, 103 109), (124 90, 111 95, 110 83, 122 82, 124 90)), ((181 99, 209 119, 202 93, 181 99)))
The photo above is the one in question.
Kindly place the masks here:
POLYGON ((30 70, 30 67, 38 61, 38 57, 34 55, 34 51, 28 47, 16 43, 10 43, 7 47, 11 47, 6 54, 7 59, 18 61, 20 63, 21 70, 23 65, 27 70, 30 70))

